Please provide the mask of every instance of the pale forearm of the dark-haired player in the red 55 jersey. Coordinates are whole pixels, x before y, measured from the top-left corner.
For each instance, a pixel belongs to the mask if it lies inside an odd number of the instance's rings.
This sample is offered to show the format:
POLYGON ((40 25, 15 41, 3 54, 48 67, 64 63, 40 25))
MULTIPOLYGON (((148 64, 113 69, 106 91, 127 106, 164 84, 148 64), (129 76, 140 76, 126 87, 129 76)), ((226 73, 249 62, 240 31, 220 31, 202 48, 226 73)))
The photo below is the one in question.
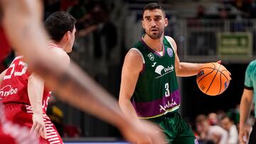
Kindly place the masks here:
POLYGON ((33 113, 43 114, 43 80, 33 76, 28 77, 28 99, 32 106, 33 113))

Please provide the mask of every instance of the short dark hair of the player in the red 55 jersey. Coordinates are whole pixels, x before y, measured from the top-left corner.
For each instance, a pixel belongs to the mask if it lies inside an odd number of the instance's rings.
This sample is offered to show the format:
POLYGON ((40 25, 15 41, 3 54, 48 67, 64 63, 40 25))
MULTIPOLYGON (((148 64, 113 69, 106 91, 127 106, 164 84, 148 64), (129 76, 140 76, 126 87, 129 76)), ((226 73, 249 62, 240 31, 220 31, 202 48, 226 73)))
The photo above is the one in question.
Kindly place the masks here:
POLYGON ((75 26, 75 18, 65 11, 56 11, 45 21, 46 31, 50 34, 50 38, 59 42, 65 33, 72 32, 75 26))

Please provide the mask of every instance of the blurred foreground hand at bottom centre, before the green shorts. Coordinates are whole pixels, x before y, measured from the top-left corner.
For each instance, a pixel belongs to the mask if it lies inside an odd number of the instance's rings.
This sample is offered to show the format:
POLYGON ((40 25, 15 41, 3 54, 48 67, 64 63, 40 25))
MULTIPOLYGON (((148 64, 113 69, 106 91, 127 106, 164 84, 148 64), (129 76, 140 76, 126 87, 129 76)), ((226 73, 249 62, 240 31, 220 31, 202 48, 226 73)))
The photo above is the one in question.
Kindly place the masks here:
POLYGON ((161 128, 149 121, 132 122, 121 128, 124 137, 131 143, 164 144, 166 143, 161 128))

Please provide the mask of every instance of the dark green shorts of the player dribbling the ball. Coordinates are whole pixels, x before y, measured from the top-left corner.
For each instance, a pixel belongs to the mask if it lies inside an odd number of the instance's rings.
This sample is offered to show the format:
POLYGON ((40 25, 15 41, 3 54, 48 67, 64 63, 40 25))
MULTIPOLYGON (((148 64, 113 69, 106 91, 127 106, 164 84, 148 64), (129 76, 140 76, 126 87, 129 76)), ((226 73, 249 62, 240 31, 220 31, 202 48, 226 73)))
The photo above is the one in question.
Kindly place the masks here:
POLYGON ((149 121, 159 124, 166 135, 166 141, 171 144, 198 143, 188 123, 178 112, 167 113, 149 121))

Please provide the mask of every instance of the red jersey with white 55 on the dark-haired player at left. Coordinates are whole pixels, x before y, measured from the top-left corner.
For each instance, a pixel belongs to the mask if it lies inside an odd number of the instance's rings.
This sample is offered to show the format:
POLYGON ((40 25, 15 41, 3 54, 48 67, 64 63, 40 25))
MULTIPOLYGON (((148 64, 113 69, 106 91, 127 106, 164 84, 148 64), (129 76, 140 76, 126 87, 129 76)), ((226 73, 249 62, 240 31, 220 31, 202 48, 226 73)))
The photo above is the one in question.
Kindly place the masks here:
MULTIPOLYGON (((23 62, 23 56, 18 56, 11 62, 11 65, 4 75, 4 80, 0 87, 0 99, 4 104, 21 103, 30 105, 28 99, 28 77, 31 75, 28 72, 28 65, 23 62)), ((46 112, 50 91, 44 88, 43 91, 43 112, 46 112)))

